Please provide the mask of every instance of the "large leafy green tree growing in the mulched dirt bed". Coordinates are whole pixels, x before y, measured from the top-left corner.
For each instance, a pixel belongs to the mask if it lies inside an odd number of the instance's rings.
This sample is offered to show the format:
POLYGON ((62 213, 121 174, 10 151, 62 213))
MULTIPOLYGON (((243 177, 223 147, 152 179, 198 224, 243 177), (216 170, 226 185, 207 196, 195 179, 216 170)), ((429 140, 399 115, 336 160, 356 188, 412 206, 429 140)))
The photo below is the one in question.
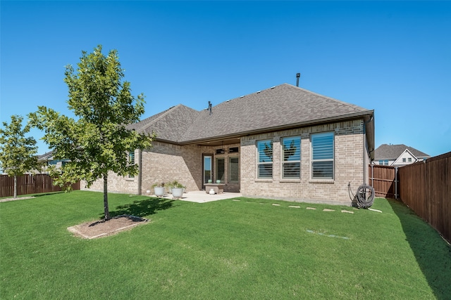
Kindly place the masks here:
POLYGON ((137 174, 137 164, 128 153, 151 146, 152 137, 127 128, 144 113, 144 95, 130 92, 116 50, 108 56, 101 52, 82 51, 75 71, 66 66, 64 81, 68 85, 68 108, 75 119, 39 106, 30 114, 34 126, 45 132, 44 141, 54 150, 54 158, 69 159, 58 184, 85 180, 89 187, 99 178, 104 181, 104 212, 109 220, 108 174, 137 174))

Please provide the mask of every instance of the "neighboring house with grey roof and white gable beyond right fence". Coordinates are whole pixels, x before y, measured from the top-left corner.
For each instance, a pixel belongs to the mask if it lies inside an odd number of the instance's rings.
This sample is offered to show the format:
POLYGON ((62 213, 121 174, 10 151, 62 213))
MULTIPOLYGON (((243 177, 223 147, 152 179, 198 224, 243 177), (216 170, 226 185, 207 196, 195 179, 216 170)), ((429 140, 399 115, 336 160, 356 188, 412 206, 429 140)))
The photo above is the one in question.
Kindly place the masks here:
POLYGON ((431 156, 406 145, 382 144, 374 150, 373 164, 402 167, 406 164, 421 162, 428 158, 431 158, 431 156))

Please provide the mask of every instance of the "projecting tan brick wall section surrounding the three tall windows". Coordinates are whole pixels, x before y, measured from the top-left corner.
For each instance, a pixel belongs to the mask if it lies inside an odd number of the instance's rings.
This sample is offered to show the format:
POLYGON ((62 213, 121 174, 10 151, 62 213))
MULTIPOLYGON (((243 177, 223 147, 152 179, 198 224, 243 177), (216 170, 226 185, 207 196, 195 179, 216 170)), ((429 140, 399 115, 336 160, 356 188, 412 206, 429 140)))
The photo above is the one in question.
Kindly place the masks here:
MULTIPOLYGON (((363 121, 355 120, 311 126, 274 133, 245 136, 241 139, 241 193, 245 197, 270 197, 302 202, 351 204, 348 183, 355 193, 364 181, 363 121), (311 133, 334 132, 334 179, 311 179, 311 133), (282 146, 280 138, 301 136, 301 178, 281 176, 282 146), (273 178, 257 178, 257 148, 259 140, 273 141, 273 178)), ((366 164, 365 164, 366 166, 366 164)), ((366 171, 367 168, 365 168, 366 171)))

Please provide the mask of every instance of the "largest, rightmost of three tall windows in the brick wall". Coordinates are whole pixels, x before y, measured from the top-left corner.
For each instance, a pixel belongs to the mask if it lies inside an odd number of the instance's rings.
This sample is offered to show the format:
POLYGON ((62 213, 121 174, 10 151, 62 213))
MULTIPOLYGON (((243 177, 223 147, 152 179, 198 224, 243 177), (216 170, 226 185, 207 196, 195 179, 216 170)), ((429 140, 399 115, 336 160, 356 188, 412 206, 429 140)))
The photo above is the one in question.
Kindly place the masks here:
POLYGON ((311 178, 333 179, 333 132, 311 135, 311 178))

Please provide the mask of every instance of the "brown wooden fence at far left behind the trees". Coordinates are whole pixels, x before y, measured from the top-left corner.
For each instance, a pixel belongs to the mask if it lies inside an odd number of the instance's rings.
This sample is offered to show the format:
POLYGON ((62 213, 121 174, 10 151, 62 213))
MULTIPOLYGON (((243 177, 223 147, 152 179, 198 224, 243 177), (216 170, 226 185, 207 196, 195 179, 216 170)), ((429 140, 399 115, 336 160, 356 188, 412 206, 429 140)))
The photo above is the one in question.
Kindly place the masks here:
MULTIPOLYGON (((73 190, 80 190, 80 182, 72 185, 73 190)), ((61 188, 53 185, 47 174, 23 175, 17 177, 17 195, 59 192, 61 188)), ((0 197, 14 195, 14 177, 0 175, 0 197)))

